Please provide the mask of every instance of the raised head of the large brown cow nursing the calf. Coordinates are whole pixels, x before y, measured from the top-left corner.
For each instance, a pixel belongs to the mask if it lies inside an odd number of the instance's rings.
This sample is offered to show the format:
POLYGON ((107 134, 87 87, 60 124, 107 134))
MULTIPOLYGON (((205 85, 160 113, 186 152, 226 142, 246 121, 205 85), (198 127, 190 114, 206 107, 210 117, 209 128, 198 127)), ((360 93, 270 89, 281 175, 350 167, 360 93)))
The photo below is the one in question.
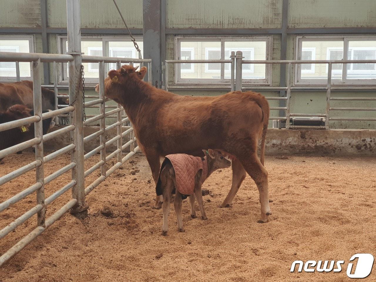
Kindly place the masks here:
MULTIPOLYGON (((142 67, 139 71, 136 71, 137 68, 132 65, 123 65, 118 70, 110 70, 105 78, 105 96, 118 103, 121 102, 119 97, 127 87, 142 80, 146 74, 146 67, 142 67)), ((96 86, 96 92, 99 92, 99 84, 96 86)))

